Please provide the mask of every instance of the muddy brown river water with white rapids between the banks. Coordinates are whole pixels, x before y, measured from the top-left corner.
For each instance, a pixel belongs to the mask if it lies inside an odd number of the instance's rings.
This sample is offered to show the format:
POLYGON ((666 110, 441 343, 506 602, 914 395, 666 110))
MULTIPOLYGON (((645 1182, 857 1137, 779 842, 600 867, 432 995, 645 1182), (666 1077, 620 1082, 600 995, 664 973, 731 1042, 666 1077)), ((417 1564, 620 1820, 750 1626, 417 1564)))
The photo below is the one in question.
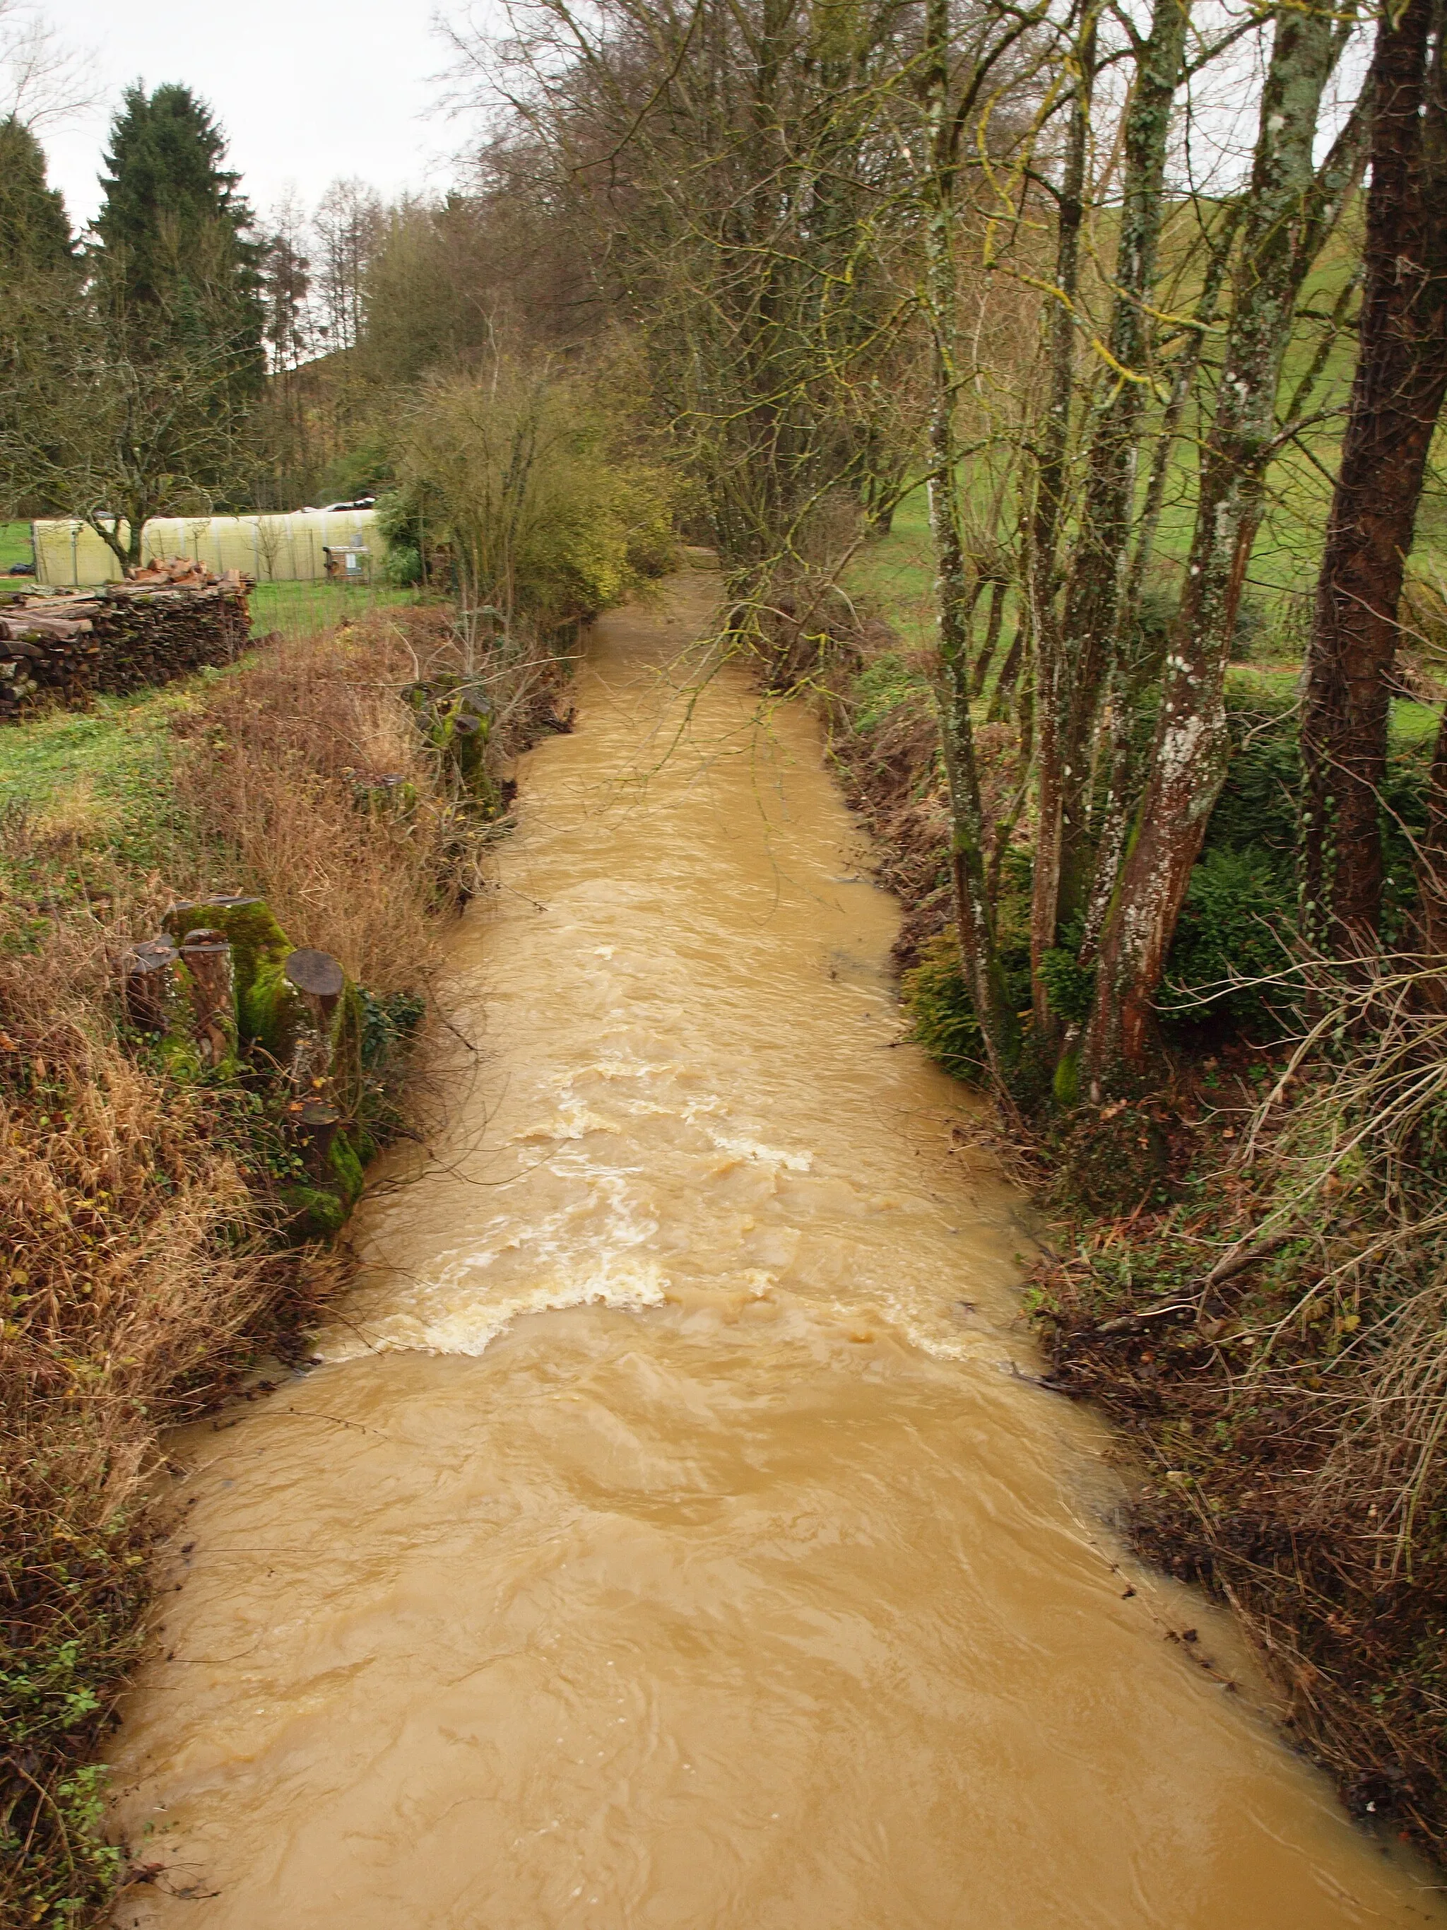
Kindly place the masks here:
POLYGON ((602 621, 531 755, 475 1083, 322 1365, 177 1449, 118 1924, 1447 1922, 1013 1372, 1019 1200, 810 718, 683 662, 712 587, 602 621))

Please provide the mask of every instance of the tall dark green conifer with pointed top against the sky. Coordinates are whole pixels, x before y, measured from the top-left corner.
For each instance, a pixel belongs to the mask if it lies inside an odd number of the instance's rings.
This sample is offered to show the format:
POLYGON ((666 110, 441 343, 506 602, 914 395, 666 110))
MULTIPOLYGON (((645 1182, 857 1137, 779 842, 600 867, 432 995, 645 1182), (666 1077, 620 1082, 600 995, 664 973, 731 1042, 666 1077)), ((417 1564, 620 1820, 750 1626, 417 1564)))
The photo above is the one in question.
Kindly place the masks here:
POLYGON ((160 353, 224 355, 230 386, 264 376, 260 245, 226 137, 189 87, 123 95, 112 124, 96 270, 104 307, 160 353))

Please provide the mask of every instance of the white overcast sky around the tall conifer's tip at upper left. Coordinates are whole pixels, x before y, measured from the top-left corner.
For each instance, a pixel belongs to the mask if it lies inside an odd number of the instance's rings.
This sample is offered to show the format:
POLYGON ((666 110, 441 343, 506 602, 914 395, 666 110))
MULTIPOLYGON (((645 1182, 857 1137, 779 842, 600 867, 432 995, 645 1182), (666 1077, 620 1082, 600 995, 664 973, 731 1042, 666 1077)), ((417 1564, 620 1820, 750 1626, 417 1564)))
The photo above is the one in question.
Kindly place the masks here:
POLYGON ((96 174, 120 91, 185 81, 210 102, 259 214, 293 183, 314 203, 338 176, 384 195, 440 187, 461 129, 428 114, 448 60, 438 0, 50 0, 64 39, 95 54, 100 108, 44 127, 71 222, 100 207, 96 174))

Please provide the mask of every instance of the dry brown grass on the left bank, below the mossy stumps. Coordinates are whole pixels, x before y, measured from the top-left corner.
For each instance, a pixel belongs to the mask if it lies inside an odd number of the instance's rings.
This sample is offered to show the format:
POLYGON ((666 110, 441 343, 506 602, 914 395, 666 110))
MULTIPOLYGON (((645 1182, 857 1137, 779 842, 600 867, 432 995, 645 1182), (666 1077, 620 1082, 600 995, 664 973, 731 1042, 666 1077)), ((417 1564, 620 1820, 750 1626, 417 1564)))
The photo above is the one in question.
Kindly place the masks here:
POLYGON ((0 1920, 50 1924, 114 1876, 79 1764, 135 1646, 156 1430, 303 1297, 235 1094, 122 1048, 114 934, 0 936, 0 1920))

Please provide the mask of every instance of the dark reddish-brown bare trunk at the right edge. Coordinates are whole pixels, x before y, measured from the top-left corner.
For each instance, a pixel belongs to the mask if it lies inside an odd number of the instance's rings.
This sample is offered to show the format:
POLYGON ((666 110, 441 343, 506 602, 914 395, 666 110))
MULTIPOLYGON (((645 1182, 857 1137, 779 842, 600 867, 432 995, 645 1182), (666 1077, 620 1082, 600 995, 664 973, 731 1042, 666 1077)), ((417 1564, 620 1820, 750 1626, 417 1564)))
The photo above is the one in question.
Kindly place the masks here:
POLYGON ((1381 913, 1397 604, 1447 392, 1447 0, 1387 12, 1372 62, 1372 187, 1356 380, 1327 519, 1302 708, 1302 917, 1351 955, 1381 913))

